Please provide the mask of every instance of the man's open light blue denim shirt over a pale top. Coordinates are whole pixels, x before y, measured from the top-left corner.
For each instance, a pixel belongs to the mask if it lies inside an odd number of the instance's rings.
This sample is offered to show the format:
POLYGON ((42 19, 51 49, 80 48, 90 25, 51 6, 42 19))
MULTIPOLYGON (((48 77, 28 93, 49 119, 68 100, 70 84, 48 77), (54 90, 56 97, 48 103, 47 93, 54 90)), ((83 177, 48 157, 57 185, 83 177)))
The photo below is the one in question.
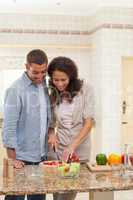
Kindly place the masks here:
MULTIPOLYGON (((48 130, 51 122, 51 109, 45 81, 44 91, 47 97, 48 130)), ((40 128, 39 90, 24 73, 6 91, 3 144, 5 147, 15 148, 16 159, 39 162, 41 160, 40 128)), ((46 133, 45 141, 44 148, 47 154, 48 133, 46 133)))

